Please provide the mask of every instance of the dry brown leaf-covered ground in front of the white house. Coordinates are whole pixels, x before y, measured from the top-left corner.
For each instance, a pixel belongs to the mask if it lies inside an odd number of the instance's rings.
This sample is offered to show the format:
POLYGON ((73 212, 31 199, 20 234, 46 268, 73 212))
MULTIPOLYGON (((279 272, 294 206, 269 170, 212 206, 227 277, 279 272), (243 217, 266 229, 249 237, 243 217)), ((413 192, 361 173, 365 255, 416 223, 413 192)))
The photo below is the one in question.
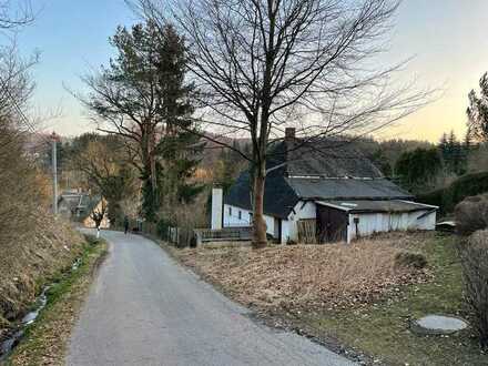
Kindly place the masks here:
POLYGON ((350 306, 424 282, 428 270, 395 266, 395 256, 428 234, 389 234, 352 245, 211 246, 176 252, 180 260, 244 304, 264 307, 350 306))

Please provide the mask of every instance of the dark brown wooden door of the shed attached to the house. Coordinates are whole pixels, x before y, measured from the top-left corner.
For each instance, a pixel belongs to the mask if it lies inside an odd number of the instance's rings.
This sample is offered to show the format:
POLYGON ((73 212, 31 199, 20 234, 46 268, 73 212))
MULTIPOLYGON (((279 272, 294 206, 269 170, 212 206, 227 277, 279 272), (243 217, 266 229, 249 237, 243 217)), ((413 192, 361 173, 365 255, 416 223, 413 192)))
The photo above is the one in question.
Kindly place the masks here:
POLYGON ((317 204, 317 234, 319 243, 347 241, 347 212, 317 204))

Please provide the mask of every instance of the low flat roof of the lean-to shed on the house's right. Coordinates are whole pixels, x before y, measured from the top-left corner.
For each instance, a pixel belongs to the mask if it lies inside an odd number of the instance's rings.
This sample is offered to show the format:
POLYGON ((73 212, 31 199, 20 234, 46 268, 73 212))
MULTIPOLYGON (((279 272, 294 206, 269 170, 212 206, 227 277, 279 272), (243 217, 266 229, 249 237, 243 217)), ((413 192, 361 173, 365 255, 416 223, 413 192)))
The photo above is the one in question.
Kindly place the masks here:
POLYGON ((317 201, 319 205, 347 211, 349 213, 404 213, 415 211, 431 211, 437 210, 437 206, 427 204, 390 200, 390 201, 352 201, 352 200, 338 200, 338 201, 317 201))

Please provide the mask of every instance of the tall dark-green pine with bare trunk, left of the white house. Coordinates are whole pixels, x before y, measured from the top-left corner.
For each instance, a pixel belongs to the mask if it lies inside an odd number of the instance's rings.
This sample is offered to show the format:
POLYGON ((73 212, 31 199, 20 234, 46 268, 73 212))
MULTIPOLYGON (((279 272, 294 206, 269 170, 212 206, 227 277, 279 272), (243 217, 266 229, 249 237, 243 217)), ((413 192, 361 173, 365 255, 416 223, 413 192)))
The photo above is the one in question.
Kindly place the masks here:
POLYGON ((120 27, 111 44, 118 54, 101 73, 85 78, 91 93, 83 102, 99 116, 99 130, 125 141, 142 180, 142 213, 154 222, 170 192, 189 201, 199 191, 187 184, 196 162, 187 153, 195 126, 186 49, 174 27, 152 21, 120 27), (177 184, 169 183, 173 177, 177 184))

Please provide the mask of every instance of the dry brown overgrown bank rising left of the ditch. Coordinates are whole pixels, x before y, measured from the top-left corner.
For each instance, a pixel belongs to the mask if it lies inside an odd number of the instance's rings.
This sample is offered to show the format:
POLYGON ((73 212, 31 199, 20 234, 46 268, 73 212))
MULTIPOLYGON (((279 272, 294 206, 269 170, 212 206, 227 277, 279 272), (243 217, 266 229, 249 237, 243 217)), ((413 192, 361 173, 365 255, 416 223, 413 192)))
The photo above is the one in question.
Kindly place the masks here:
POLYGON ((69 266, 82 238, 49 211, 49 181, 24 152, 24 136, 0 118, 0 339, 40 286, 69 266))

